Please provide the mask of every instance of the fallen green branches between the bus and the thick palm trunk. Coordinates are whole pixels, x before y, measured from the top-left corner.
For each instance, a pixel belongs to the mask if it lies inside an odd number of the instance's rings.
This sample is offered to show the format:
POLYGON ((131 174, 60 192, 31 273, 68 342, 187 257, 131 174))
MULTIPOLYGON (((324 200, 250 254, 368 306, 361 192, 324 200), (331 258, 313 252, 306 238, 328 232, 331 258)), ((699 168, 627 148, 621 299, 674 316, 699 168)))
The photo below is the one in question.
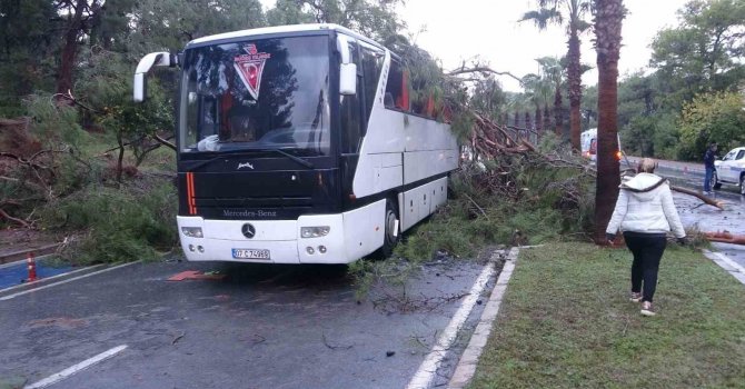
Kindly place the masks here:
MULTIPOLYGON (((542 144, 557 150, 558 139, 545 137, 542 144)), ((484 188, 487 172, 454 174, 450 191, 455 199, 436 212, 429 222, 405 236, 396 253, 409 260, 428 259, 436 251, 468 257, 485 245, 535 245, 584 233, 593 229, 594 186, 590 176, 576 167, 556 168, 536 160, 487 161, 510 166, 505 180, 516 197, 484 188)))

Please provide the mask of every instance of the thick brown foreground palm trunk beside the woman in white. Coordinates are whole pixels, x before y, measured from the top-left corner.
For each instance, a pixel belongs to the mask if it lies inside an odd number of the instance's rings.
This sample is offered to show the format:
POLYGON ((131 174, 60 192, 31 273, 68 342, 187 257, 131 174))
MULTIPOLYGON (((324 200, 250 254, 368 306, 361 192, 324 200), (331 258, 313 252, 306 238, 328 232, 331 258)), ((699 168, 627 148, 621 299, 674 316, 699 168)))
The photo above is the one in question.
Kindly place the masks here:
POLYGON ((620 183, 618 161, 618 58, 623 0, 594 0, 595 50, 597 51, 597 181, 595 187, 595 241, 605 242, 620 183))

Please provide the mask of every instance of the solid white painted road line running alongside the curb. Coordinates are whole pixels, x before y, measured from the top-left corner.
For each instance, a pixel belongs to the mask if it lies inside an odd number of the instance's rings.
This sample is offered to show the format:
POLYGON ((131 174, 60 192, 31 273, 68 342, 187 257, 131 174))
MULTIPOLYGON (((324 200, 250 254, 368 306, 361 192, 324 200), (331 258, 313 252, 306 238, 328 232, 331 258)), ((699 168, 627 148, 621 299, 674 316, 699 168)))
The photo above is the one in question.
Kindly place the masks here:
POLYGON ((407 389, 429 388, 433 378, 437 373, 437 368, 439 368, 443 359, 447 355, 447 350, 453 346, 453 342, 458 335, 458 330, 466 322, 466 319, 468 319, 468 315, 470 315, 471 309, 474 309, 476 300, 478 300, 481 291, 484 290, 484 287, 486 287, 486 283, 489 281, 489 278, 493 275, 494 263, 489 262, 484 267, 484 270, 481 270, 481 273, 476 279, 474 287, 470 289, 470 293, 463 300, 460 308, 458 308, 458 310, 453 316, 453 319, 443 331, 443 335, 440 335, 439 339, 437 340, 437 345, 433 347, 431 351, 429 351, 425 360, 419 366, 419 369, 409 381, 409 385, 406 387, 407 389))

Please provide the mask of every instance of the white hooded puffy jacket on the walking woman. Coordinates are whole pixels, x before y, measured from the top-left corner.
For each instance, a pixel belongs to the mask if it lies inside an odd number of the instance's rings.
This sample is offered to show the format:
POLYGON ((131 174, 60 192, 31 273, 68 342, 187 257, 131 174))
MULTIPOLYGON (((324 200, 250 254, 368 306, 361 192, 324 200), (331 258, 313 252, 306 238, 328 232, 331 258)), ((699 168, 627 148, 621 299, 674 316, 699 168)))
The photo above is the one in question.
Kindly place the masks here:
POLYGON ((685 237, 666 179, 638 173, 619 188, 616 209, 605 230, 607 233, 616 233, 619 227, 622 231, 643 233, 666 233, 672 228, 676 238, 685 237))

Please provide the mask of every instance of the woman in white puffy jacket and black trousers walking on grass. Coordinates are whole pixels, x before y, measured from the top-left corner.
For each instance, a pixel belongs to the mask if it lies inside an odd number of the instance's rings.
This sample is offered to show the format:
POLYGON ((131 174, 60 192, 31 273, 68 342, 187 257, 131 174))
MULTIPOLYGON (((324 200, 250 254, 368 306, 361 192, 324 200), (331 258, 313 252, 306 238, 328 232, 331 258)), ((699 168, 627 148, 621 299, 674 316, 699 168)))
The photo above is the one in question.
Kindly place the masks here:
POLYGON ((644 316, 657 315, 652 301, 667 231, 672 229, 678 242, 685 243, 685 230, 673 203, 669 184, 667 179, 654 174, 656 167, 655 160, 645 158, 637 166, 637 174, 620 184, 616 209, 605 230, 610 242, 620 228, 626 246, 634 255, 630 300, 642 301, 644 316))

